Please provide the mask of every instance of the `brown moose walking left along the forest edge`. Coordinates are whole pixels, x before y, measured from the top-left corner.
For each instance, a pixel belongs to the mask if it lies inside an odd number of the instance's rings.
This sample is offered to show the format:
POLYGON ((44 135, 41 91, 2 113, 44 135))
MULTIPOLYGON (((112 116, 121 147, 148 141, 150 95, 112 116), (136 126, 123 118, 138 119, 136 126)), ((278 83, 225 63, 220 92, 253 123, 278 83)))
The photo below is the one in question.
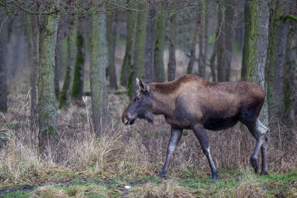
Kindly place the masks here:
POLYGON ((261 148, 262 169, 267 174, 267 132, 259 121, 265 99, 265 91, 251 82, 209 82, 195 75, 182 77, 166 83, 145 84, 136 78, 139 89, 122 114, 124 125, 133 125, 137 118, 153 123, 154 115, 164 115, 171 125, 171 136, 164 167, 158 177, 165 177, 169 161, 184 129, 191 129, 206 156, 212 180, 219 174, 209 151, 206 130, 224 130, 241 122, 257 140, 250 163, 258 172, 257 155, 261 148))

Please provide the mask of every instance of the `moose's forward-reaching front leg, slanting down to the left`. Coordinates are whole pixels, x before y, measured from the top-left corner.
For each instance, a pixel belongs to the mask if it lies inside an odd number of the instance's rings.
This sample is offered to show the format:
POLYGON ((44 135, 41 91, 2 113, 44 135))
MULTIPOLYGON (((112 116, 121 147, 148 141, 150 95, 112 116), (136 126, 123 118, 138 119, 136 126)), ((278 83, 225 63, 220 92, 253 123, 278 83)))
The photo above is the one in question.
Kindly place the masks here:
POLYGON ((166 176, 168 166, 169 166, 169 161, 171 159, 171 155, 174 152, 175 147, 177 146, 179 140, 181 139, 182 134, 183 134, 183 129, 175 128, 175 127, 171 126, 171 136, 170 136, 170 140, 168 143, 166 161, 165 161, 164 167, 163 167, 161 173, 158 175, 158 177, 162 178, 162 177, 166 176))

